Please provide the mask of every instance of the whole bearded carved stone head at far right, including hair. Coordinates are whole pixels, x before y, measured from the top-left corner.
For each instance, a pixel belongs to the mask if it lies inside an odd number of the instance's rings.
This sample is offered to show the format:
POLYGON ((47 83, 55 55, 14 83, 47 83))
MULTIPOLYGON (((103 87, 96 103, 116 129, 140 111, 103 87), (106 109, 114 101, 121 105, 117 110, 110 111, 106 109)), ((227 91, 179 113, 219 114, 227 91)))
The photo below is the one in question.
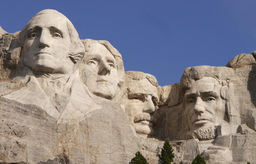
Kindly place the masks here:
POLYGON ((190 131, 199 139, 214 138, 217 125, 240 124, 239 104, 234 100, 235 77, 234 70, 227 67, 185 69, 181 93, 190 131))

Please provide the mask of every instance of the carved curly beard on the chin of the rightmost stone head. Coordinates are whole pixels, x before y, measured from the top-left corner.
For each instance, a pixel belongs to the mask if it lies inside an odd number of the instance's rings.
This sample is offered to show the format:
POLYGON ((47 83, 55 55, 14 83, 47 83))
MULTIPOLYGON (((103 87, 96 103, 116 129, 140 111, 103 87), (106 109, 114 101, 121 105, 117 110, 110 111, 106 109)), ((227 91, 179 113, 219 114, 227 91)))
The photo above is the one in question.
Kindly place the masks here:
POLYGON ((217 129, 215 126, 199 128, 193 132, 197 135, 199 140, 211 140, 217 136, 217 129))

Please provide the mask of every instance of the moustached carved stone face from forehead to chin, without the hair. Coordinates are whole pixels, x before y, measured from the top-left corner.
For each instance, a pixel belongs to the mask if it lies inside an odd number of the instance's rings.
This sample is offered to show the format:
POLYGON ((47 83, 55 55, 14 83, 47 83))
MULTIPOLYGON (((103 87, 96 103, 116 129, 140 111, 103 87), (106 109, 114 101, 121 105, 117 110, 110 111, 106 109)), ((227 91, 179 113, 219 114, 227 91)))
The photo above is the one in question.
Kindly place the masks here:
POLYGON ((125 114, 136 133, 153 135, 153 123, 150 120, 155 112, 155 103, 158 99, 157 87, 147 79, 133 80, 129 88, 128 101, 125 105, 125 114))

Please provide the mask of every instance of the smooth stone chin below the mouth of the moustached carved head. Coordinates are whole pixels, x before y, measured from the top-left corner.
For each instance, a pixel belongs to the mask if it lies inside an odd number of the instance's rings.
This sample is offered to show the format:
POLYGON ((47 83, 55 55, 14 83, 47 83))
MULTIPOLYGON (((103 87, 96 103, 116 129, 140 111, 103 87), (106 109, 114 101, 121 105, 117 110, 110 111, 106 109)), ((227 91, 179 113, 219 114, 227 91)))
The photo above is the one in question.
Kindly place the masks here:
POLYGON ((138 134, 145 134, 149 136, 154 134, 153 124, 148 121, 139 121, 135 123, 134 129, 138 134))

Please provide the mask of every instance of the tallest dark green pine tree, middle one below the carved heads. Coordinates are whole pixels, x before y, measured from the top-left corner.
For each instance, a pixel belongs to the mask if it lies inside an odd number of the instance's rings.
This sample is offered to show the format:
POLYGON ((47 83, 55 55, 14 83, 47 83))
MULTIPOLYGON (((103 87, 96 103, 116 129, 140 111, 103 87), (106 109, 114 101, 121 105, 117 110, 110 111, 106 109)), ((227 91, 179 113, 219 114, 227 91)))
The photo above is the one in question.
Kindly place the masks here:
POLYGON ((170 142, 166 139, 161 150, 160 161, 162 164, 170 164, 173 162, 173 158, 173 148, 171 147, 170 142))

